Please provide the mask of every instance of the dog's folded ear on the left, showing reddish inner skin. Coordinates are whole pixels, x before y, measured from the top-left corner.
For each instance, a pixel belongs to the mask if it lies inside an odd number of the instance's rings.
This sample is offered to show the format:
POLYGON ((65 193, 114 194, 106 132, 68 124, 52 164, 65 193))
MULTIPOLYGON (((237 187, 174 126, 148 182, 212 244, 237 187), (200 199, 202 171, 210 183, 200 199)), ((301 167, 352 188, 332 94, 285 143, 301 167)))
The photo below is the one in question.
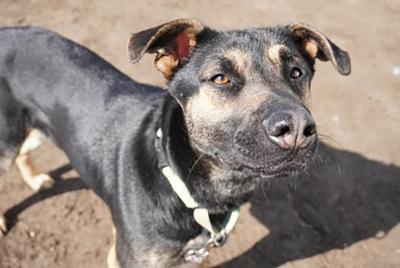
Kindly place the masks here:
POLYGON ((196 46, 197 35, 204 26, 195 20, 180 19, 131 34, 129 57, 132 63, 139 61, 145 53, 157 53, 156 68, 167 79, 190 58, 196 46))

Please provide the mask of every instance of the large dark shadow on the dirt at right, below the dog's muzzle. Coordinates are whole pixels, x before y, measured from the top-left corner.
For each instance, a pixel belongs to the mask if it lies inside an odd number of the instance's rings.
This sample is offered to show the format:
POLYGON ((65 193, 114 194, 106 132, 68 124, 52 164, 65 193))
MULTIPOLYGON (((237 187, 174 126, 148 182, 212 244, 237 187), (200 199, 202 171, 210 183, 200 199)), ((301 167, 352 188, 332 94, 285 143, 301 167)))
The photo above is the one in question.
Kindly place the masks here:
MULTIPOLYGON (((251 202, 270 233, 223 267, 276 267, 367 238, 382 239, 400 222, 400 167, 321 146, 322 164, 287 184, 272 183, 251 202)), ((251 227, 249 227, 251 228, 251 227)))

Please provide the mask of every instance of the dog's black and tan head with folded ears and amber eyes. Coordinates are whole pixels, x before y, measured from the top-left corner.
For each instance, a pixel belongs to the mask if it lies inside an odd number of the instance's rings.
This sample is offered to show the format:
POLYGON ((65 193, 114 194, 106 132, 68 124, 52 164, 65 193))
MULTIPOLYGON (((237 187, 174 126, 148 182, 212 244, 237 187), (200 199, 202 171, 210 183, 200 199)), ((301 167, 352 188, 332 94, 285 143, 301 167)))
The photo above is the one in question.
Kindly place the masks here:
POLYGON ((195 150, 257 177, 306 168, 318 136, 308 110, 316 59, 350 73, 348 54, 304 24, 219 32, 176 20, 133 34, 133 62, 155 65, 181 105, 195 150))

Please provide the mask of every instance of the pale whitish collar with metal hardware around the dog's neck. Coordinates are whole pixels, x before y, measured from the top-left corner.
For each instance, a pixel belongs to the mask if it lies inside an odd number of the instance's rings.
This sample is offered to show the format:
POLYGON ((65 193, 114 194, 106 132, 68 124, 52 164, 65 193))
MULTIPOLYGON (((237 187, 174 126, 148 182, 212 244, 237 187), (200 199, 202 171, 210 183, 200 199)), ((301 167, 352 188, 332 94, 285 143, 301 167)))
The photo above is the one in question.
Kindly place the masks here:
POLYGON ((201 207, 196 202, 182 178, 168 165, 168 155, 165 152, 164 146, 165 138, 163 137, 161 128, 159 128, 156 132, 156 149, 159 152, 159 168, 179 199, 187 208, 193 209, 193 218, 196 223, 207 230, 210 235, 209 241, 204 244, 202 248, 197 249, 197 251, 193 249, 188 250, 185 254, 185 260, 192 262, 198 262, 198 260, 202 261, 208 255, 209 248, 220 247, 225 243, 229 233, 237 223, 239 208, 229 211, 222 222, 213 223, 208 209, 201 207), (200 257, 199 253, 201 255, 200 257))

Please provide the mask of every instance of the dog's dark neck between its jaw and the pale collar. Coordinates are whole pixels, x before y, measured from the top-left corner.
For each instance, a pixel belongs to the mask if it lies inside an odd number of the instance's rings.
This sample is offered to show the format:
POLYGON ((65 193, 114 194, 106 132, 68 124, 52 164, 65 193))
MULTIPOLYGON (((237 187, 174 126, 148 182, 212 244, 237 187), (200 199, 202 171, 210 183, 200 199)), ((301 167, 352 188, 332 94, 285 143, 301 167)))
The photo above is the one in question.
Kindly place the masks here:
POLYGON ((164 135, 159 161, 165 161, 177 172, 197 203, 210 213, 219 214, 250 198, 254 180, 218 166, 212 158, 193 149, 182 109, 173 98, 164 105, 160 128, 164 135))

